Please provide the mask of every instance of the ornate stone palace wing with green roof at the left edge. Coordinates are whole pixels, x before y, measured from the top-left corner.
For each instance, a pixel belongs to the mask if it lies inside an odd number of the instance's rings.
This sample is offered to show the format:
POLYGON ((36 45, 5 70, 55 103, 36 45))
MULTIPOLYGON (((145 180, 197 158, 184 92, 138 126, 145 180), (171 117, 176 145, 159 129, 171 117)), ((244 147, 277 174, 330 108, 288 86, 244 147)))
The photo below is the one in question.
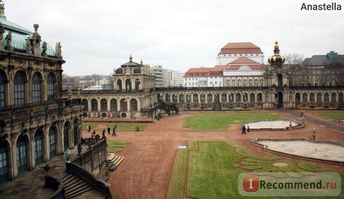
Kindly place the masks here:
POLYGON ((55 49, 6 19, 0 1, 0 185, 80 142, 80 100, 62 95, 61 44, 55 49))

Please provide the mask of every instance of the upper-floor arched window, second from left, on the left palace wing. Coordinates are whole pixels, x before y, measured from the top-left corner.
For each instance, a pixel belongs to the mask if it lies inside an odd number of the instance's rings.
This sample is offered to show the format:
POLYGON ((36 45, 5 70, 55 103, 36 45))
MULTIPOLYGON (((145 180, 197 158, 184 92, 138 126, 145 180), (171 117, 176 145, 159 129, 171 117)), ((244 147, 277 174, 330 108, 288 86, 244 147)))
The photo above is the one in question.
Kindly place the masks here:
POLYGON ((14 106, 25 105, 25 77, 24 73, 18 71, 14 75, 14 106))

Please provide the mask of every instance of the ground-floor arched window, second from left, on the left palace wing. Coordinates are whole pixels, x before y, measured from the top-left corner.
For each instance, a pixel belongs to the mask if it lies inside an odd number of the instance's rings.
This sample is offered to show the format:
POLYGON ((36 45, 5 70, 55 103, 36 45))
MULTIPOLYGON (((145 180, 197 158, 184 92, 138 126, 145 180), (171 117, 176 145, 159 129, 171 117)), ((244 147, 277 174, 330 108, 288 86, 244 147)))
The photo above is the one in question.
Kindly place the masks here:
POLYGON ((19 175, 28 171, 28 141, 25 135, 17 139, 17 169, 19 175))

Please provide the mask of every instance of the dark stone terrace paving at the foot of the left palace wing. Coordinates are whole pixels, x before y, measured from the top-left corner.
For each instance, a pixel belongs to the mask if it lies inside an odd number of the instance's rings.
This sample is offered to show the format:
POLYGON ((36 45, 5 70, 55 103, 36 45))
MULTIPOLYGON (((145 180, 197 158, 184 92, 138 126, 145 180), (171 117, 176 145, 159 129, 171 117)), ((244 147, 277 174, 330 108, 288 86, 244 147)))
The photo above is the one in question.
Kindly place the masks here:
MULTIPOLYGON (((71 159, 75 159, 78 150, 75 148, 71 150, 71 159)), ((49 173, 56 177, 62 178, 65 173, 65 155, 56 156, 47 164, 50 166, 49 173)), ((32 172, 27 172, 17 178, 14 182, 8 182, 0 187, 0 198, 18 199, 18 198, 49 198, 54 194, 53 189, 47 189, 45 185, 45 163, 36 167, 32 172)), ((92 190, 85 192, 78 198, 104 198, 103 194, 97 193, 98 191, 92 190), (103 196, 103 197, 102 197, 103 196)))

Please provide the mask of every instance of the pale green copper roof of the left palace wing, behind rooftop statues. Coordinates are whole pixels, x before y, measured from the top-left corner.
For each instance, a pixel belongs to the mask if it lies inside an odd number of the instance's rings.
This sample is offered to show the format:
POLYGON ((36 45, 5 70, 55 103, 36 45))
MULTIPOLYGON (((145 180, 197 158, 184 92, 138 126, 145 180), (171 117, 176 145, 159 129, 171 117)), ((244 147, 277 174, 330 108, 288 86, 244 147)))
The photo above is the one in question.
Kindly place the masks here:
MULTIPOLYGON (((6 45, 6 35, 8 35, 8 33, 11 32, 12 33, 11 46, 13 47, 13 50, 26 52, 26 39, 32 36, 34 32, 24 27, 21 27, 20 25, 7 21, 6 16, 0 16, 0 23, 3 26, 3 29, 5 30, 5 32, 3 33, 3 38, 2 40, 0 40, 0 42, 2 42, 3 45, 6 45)), ((43 41, 41 42, 41 47, 40 47, 41 51, 43 50, 42 45, 43 45, 43 41)), ((49 44, 47 44, 46 54, 47 56, 56 57, 54 49, 49 44)))

